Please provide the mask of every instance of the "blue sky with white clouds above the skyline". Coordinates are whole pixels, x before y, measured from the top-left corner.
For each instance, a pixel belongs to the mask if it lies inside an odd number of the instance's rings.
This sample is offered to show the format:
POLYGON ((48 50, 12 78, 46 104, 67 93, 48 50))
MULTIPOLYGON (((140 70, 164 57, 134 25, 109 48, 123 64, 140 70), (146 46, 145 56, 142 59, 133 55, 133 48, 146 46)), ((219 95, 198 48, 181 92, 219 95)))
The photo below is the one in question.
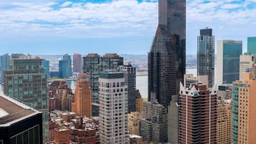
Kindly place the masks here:
MULTIPOLYGON (((255 19, 256 0, 187 0, 186 54, 206 27, 246 52, 255 19)), ((147 54, 157 24, 156 0, 0 0, 0 54, 147 54)))

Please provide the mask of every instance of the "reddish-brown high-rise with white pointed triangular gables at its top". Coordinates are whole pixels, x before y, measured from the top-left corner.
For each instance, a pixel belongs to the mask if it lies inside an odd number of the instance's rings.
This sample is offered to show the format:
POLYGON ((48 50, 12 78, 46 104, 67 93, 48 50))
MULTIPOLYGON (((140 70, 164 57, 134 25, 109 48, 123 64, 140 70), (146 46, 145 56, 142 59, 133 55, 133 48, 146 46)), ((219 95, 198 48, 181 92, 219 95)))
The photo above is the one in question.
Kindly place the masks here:
POLYGON ((179 143, 217 143, 217 89, 192 84, 179 101, 179 143))

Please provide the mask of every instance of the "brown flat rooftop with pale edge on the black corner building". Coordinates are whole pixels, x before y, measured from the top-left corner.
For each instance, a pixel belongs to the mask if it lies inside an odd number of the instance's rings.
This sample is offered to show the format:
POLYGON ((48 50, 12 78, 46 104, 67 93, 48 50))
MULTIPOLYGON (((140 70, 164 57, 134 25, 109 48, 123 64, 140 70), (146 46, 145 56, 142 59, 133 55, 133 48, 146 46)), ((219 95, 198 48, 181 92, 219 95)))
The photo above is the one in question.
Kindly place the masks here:
POLYGON ((0 126, 11 125, 37 113, 37 110, 0 93, 0 126))

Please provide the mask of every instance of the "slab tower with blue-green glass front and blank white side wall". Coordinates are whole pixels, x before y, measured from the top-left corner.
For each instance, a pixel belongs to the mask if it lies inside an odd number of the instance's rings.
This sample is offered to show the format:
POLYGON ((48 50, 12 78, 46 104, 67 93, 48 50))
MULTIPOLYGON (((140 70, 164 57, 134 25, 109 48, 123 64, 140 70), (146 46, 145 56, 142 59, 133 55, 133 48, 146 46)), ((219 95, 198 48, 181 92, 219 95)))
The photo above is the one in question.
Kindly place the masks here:
POLYGON ((242 41, 217 41, 217 85, 232 84, 240 78, 242 41))

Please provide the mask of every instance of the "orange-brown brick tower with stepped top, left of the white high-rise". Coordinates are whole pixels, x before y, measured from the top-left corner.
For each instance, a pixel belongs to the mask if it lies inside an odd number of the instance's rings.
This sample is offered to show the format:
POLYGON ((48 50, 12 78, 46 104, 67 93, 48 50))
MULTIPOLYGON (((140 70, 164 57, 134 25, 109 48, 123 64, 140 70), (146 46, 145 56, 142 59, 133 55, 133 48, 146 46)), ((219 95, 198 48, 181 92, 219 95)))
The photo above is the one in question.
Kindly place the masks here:
POLYGON ((86 74, 78 75, 72 112, 79 116, 92 117, 92 90, 86 74))

